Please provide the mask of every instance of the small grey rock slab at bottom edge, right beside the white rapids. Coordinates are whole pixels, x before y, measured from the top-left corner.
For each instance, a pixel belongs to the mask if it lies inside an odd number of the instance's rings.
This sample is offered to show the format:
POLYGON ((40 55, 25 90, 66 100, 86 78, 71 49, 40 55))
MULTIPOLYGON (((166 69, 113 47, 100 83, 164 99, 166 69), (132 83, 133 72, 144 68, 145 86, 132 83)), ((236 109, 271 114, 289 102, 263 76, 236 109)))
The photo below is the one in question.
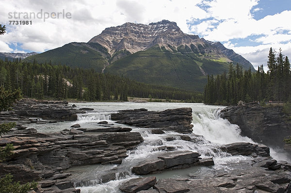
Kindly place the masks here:
POLYGON ((121 184, 119 189, 125 193, 137 193, 153 187, 157 182, 156 177, 132 178, 121 184))

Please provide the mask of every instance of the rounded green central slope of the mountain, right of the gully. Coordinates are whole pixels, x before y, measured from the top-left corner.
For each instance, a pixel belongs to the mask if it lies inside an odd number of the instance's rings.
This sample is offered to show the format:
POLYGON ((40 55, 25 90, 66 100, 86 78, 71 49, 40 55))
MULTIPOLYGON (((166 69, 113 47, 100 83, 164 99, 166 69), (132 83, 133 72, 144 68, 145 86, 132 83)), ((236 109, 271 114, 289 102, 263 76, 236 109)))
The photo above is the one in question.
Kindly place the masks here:
POLYGON ((206 73, 210 71, 218 74, 227 70, 226 63, 199 59, 193 52, 188 53, 187 51, 191 51, 188 49, 188 46, 179 46, 179 52, 173 53, 154 46, 116 60, 104 72, 148 84, 202 91, 207 77, 202 74, 197 62, 203 64, 202 69, 206 73))

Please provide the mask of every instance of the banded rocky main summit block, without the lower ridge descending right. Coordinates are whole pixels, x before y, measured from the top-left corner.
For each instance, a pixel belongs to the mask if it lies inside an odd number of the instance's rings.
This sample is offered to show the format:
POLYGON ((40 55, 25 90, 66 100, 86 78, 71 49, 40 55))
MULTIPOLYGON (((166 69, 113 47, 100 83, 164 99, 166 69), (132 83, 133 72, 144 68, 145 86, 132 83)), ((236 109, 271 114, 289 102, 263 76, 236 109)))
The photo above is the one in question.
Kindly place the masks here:
POLYGON ((106 28, 89 43, 106 47, 111 55, 123 49, 135 53, 157 44, 175 45, 174 39, 183 34, 176 22, 168 20, 149 25, 127 22, 121 26, 106 28))

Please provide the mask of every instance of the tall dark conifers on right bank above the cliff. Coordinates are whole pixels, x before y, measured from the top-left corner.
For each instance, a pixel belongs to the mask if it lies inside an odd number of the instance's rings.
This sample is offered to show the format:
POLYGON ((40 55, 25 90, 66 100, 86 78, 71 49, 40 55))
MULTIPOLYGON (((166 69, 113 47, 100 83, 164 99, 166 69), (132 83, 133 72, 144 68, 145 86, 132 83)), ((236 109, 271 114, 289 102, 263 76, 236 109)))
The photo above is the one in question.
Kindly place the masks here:
POLYGON ((237 104, 253 101, 283 101, 291 100, 291 71, 288 57, 284 57, 281 49, 276 53, 272 47, 268 56, 268 71, 263 65, 256 73, 251 70, 242 71, 238 64, 229 65, 228 74, 213 77, 208 76, 204 92, 205 104, 237 104))

